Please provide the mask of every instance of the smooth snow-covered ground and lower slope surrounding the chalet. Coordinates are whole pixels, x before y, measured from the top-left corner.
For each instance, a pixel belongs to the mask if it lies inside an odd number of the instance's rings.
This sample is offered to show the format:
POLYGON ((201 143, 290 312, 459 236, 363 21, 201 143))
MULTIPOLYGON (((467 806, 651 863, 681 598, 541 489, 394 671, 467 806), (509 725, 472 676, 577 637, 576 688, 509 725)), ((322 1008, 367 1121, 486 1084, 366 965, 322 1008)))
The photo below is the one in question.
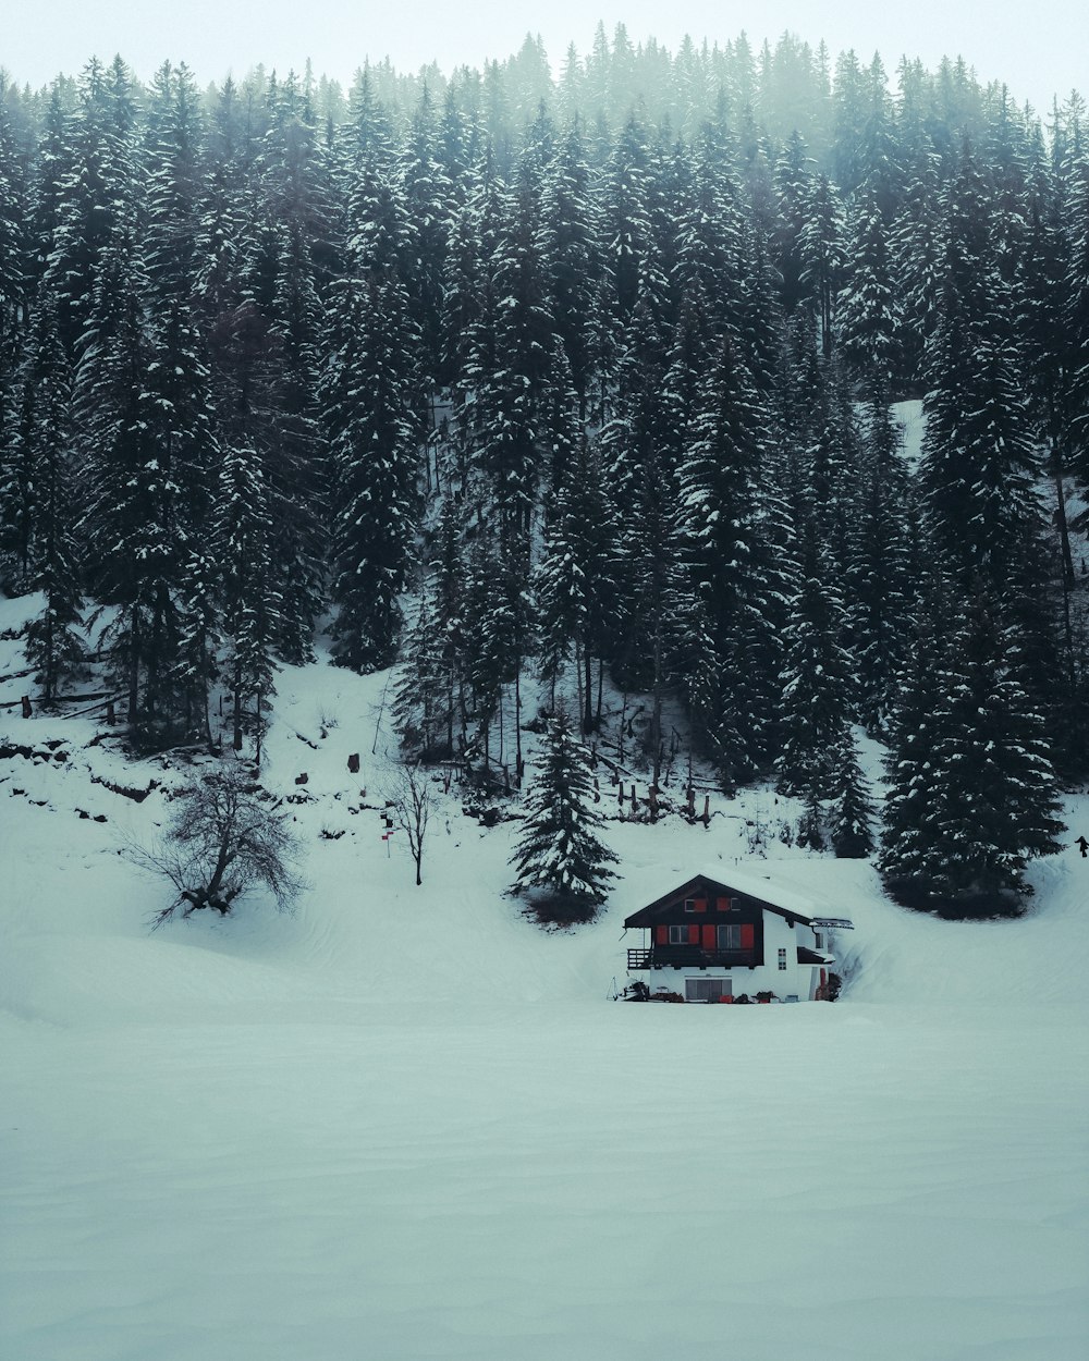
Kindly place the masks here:
POLYGON ((4 710, 5 750, 59 746, 0 761, 1 1356, 1085 1356, 1075 849, 1024 920, 947 924, 866 864, 750 856, 779 814, 753 793, 708 830, 611 823, 607 909, 546 934, 504 897, 510 825, 456 791, 421 889, 381 841, 383 686, 279 679, 297 913, 154 934, 163 889, 117 848, 177 772, 4 710), (852 917, 843 999, 611 1000, 623 917, 700 868, 852 917))

